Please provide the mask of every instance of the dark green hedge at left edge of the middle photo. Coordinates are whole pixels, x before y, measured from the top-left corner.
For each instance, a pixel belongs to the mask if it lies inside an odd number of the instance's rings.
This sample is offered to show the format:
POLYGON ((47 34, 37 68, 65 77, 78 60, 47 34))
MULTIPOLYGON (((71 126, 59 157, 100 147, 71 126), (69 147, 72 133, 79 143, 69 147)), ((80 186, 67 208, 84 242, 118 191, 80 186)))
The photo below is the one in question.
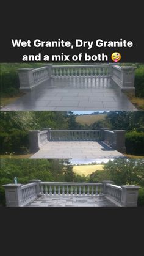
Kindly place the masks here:
POLYGON ((13 130, 9 133, 0 133, 0 153, 26 153, 29 152, 29 136, 27 131, 13 130))

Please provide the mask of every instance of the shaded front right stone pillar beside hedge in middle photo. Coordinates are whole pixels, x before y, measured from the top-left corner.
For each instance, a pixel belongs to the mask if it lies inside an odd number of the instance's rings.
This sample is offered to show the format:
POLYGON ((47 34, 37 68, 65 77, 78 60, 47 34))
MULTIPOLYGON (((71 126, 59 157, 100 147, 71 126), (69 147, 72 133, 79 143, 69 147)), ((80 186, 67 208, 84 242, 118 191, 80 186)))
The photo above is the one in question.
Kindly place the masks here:
POLYGON ((114 130, 114 141, 113 141, 113 148, 118 150, 121 153, 126 152, 125 147, 125 130, 114 130))

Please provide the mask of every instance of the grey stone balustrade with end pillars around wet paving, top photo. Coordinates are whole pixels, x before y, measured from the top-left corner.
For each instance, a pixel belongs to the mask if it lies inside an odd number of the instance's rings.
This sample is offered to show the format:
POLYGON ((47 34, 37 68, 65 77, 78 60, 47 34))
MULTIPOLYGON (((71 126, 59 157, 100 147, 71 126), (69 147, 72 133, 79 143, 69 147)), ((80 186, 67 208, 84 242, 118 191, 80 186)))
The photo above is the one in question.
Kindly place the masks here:
POLYGON ((112 84, 123 91, 134 92, 134 67, 120 67, 115 64, 104 65, 45 65, 41 68, 20 68, 18 76, 20 91, 34 89, 42 82, 52 78, 110 78, 112 84))

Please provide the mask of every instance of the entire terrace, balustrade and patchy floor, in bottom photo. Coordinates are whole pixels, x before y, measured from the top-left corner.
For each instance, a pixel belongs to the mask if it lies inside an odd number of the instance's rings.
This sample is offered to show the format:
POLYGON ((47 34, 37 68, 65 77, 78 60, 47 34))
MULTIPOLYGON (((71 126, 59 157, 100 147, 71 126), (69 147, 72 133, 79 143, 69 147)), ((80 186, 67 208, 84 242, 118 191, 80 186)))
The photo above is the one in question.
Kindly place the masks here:
POLYGON ((8 207, 115 207, 137 206, 139 186, 101 183, 41 182, 4 185, 8 207))

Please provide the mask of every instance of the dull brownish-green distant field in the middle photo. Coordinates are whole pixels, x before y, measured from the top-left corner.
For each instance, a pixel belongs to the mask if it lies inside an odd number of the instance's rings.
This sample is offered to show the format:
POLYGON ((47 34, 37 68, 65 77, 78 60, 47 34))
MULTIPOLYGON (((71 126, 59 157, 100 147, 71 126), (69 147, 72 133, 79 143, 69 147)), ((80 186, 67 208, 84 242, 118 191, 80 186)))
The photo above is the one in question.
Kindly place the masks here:
POLYGON ((76 121, 81 125, 91 125, 99 120, 104 120, 106 115, 79 115, 76 117, 76 121))

